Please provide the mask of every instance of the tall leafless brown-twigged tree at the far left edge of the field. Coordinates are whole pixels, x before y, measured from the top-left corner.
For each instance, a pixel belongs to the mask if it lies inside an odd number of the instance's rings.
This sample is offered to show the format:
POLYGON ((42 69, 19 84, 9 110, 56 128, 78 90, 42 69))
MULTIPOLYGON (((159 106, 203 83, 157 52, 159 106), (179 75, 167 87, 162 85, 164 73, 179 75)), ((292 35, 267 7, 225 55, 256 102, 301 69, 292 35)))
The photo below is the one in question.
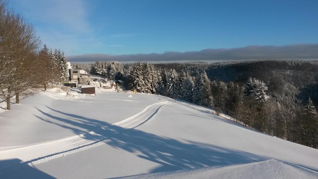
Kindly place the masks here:
POLYGON ((40 40, 33 25, 5 6, 0 0, 0 90, 10 110, 11 95, 16 94, 19 103, 19 93, 32 85, 32 56, 40 40))

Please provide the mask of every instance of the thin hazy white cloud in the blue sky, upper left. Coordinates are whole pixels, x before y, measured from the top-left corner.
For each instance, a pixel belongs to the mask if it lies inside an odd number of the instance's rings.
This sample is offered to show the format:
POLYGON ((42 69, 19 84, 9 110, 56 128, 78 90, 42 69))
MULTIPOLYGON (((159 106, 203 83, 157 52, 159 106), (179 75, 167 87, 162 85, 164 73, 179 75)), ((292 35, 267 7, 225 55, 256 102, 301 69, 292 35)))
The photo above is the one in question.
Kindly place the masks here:
POLYGON ((98 44, 88 20, 89 4, 81 0, 28 0, 16 4, 22 10, 19 13, 35 25, 42 43, 48 47, 76 54, 83 44, 98 44))

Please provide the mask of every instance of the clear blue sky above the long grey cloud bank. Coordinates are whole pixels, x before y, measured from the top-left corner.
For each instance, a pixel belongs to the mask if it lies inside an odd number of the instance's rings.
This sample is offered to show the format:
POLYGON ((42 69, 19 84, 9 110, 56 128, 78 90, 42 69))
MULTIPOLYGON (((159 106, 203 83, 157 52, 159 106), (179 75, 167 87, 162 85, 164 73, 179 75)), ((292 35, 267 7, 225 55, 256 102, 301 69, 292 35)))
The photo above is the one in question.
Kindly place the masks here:
POLYGON ((318 43, 317 0, 10 0, 67 55, 318 43))

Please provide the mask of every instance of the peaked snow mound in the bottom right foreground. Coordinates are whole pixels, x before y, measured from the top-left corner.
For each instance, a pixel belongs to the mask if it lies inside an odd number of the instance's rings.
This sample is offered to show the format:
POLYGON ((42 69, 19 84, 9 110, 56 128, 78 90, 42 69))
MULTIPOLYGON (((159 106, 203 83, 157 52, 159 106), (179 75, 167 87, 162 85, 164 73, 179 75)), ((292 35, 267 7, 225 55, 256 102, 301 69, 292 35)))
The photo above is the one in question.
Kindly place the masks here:
POLYGON ((244 178, 244 179, 268 179, 268 178, 307 178, 316 179, 317 173, 295 166, 292 164, 276 161, 276 160, 266 160, 260 162, 253 162, 247 164, 221 166, 221 167, 206 167, 199 169, 190 170, 179 170, 173 172, 160 172, 155 174, 144 174, 122 177, 123 179, 152 179, 152 178, 244 178))

